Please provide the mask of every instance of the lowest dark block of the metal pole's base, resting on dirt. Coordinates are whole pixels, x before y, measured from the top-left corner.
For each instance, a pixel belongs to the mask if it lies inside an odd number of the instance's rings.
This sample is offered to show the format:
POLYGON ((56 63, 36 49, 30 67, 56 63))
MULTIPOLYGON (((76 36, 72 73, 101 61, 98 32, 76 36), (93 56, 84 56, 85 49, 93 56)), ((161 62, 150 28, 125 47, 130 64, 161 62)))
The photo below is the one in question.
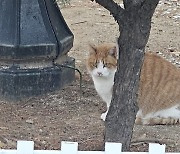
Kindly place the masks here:
MULTIPOLYGON (((62 65, 75 66, 73 58, 68 58, 62 65)), ((0 97, 18 101, 31 96, 43 95, 61 89, 72 82, 75 71, 54 65, 44 68, 21 69, 11 67, 0 69, 0 97)))

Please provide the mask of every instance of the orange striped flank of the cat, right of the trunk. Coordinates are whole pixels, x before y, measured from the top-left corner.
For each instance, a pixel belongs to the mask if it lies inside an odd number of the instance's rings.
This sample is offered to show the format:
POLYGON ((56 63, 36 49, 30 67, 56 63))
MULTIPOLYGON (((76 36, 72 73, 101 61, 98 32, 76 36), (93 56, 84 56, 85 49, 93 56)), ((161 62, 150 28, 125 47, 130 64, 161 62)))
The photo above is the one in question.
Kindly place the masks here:
POLYGON ((175 104, 180 104, 180 69, 155 53, 146 53, 140 77, 139 105, 148 113, 175 104))

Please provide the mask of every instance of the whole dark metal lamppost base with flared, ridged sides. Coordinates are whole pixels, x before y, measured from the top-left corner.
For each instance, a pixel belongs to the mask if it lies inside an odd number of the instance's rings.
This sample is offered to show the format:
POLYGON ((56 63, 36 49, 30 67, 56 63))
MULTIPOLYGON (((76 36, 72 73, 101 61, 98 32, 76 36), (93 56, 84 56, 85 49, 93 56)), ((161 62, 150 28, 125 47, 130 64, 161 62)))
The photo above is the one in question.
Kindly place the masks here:
POLYGON ((20 100, 74 80, 74 36, 55 0, 0 0, 0 98, 20 100))

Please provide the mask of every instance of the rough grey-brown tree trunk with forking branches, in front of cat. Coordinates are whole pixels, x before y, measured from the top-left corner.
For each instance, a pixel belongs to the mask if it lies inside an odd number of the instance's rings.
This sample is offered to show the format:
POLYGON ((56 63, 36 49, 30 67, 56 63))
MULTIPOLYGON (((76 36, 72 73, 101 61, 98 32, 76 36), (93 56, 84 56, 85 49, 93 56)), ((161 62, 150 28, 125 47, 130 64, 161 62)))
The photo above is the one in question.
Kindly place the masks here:
POLYGON ((121 8, 113 0, 96 0, 117 21, 120 30, 119 61, 111 106, 106 118, 105 140, 120 142, 128 151, 137 107, 138 85, 151 18, 159 0, 123 0, 121 8))

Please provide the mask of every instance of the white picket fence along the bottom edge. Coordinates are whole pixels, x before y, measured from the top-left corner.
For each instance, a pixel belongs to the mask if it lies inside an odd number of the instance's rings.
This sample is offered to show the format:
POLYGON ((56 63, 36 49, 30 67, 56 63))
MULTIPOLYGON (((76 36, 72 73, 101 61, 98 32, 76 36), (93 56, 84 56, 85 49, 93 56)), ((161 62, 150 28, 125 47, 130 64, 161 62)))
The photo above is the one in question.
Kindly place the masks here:
POLYGON ((149 152, 121 152, 121 143, 106 143, 105 151, 78 151, 77 142, 61 142, 61 150, 34 150, 33 141, 18 141, 17 150, 0 149, 0 154, 180 154, 165 153, 165 145, 150 143, 149 152))

